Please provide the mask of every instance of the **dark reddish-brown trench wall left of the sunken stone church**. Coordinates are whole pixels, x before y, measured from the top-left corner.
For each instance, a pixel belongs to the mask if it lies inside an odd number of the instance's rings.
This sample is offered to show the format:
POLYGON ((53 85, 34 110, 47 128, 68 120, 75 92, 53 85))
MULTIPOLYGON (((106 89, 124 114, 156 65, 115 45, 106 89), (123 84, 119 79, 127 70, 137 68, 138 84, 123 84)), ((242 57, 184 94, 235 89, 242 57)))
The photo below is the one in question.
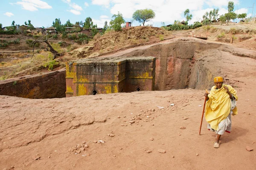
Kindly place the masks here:
POLYGON ((0 95, 22 98, 64 98, 65 69, 0 81, 0 95))

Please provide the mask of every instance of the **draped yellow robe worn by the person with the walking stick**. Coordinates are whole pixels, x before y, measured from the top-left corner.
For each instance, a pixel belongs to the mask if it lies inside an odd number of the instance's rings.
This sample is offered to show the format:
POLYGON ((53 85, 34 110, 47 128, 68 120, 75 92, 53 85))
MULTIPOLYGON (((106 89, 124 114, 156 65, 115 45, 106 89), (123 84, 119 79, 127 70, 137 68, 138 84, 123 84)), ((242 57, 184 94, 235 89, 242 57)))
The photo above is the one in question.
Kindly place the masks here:
MULTIPOLYGON (((224 86, 227 86, 230 93, 238 100, 236 90, 230 85, 222 84, 220 89, 213 86, 205 105, 205 119, 211 125, 211 128, 218 130, 218 124, 230 114, 231 101, 224 86)), ((233 115, 237 115, 237 108, 233 109, 233 115)))

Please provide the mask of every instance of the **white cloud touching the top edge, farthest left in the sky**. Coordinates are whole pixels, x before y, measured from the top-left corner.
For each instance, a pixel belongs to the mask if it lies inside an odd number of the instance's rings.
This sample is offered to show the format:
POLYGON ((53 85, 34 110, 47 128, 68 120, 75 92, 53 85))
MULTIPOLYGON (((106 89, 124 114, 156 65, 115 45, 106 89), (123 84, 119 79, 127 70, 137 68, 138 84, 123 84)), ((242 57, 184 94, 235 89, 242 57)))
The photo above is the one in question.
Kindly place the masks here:
POLYGON ((41 0, 22 0, 15 4, 22 6, 23 9, 28 11, 38 11, 38 8, 52 9, 52 6, 49 6, 48 3, 41 0))

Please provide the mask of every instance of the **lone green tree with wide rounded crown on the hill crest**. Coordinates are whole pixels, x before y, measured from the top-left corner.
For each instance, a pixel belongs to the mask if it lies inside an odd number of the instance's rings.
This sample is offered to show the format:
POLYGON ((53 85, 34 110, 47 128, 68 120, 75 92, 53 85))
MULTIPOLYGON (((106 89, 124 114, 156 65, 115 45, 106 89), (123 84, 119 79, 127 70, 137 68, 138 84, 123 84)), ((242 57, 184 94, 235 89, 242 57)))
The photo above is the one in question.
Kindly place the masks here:
POLYGON ((155 15, 156 14, 152 9, 139 9, 133 13, 132 18, 142 23, 144 26, 145 22, 148 22, 149 20, 153 19, 155 15))

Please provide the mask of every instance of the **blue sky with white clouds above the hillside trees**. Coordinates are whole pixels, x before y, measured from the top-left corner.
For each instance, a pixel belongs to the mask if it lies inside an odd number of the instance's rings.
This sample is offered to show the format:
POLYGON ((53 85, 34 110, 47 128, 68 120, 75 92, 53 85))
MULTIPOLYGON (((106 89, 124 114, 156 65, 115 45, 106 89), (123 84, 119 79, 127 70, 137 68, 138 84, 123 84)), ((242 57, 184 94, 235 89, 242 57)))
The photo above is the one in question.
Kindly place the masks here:
MULTIPOLYGON (((146 23, 156 27, 174 23, 175 20, 185 20, 184 11, 190 10, 192 20, 201 21, 205 12, 219 9, 219 14, 227 13, 227 4, 230 0, 0 0, 0 23, 10 26, 24 24, 31 20, 35 27, 52 26, 55 18, 60 18, 61 23, 70 20, 71 23, 83 21, 91 17, 93 23, 103 27, 105 21, 111 20, 113 14, 122 13, 125 22, 132 21, 132 14, 138 9, 152 9, 155 18, 146 23)), ((233 0, 234 11, 238 14, 252 15, 253 3, 256 0, 233 0)), ((256 4, 253 17, 256 14, 256 4)), ((140 23, 133 21, 132 26, 140 23)))

